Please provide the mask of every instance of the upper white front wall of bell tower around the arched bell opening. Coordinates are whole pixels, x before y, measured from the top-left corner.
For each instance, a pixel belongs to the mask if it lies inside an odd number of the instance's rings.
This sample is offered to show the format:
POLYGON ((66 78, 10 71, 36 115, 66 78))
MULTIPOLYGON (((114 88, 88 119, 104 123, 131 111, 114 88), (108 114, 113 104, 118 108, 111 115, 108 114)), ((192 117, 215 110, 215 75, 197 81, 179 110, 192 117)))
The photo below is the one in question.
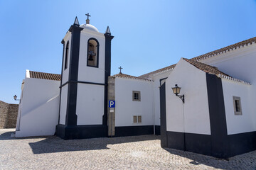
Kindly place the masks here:
POLYGON ((82 30, 80 36, 80 52, 78 66, 78 81, 89 81, 95 83, 105 83, 105 35, 82 30), (98 40, 99 67, 87 67, 87 42, 90 38, 98 40))

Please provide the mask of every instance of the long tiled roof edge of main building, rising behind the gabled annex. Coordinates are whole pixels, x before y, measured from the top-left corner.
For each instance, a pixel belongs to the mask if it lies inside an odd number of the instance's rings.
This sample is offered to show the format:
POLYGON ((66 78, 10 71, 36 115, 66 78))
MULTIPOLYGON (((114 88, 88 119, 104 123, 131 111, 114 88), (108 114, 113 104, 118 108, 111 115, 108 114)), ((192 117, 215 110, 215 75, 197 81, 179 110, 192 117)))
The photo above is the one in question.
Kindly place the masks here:
MULTIPOLYGON (((251 44, 253 44, 255 42, 256 42, 256 37, 250 38, 248 40, 243 40, 243 41, 235 43, 233 45, 229 45, 227 47, 223 47, 223 48, 220 48, 218 50, 215 50, 215 51, 212 51, 212 52, 208 52, 208 53, 206 53, 204 55, 199 55, 198 57, 193 57, 191 60, 193 60, 193 61, 204 60, 204 59, 206 59, 208 57, 213 57, 214 55, 218 55, 218 54, 223 53, 223 52, 228 52, 228 51, 240 48, 240 47, 244 47, 245 45, 251 45, 251 44)), ((150 77, 153 76, 154 74, 158 74, 158 73, 161 73, 161 72, 166 72, 169 69, 174 69, 175 65, 176 64, 173 64, 173 65, 171 65, 169 67, 164 67, 162 69, 157 69, 154 72, 149 72, 149 73, 143 74, 142 76, 139 76, 139 77, 140 78, 144 78, 144 79, 150 79, 150 77)))

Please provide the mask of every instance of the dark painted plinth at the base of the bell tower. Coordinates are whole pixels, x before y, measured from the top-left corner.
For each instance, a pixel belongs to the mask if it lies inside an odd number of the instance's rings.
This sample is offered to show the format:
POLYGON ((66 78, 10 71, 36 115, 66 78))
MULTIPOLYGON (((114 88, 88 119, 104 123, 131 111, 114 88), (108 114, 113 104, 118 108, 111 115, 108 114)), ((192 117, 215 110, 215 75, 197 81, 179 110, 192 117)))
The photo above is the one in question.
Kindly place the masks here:
POLYGON ((57 125, 55 134, 63 140, 107 137, 106 125, 57 125))

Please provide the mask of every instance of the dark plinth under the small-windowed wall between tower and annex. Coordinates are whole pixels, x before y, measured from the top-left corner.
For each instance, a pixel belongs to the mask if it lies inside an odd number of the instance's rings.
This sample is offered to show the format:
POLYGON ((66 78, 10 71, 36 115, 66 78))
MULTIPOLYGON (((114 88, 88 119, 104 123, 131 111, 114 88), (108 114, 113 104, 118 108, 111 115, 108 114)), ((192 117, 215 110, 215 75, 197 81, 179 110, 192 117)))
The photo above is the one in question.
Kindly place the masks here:
POLYGON ((153 125, 121 126, 121 127, 115 127, 114 129, 115 129, 114 137, 153 135, 154 134, 154 126, 153 125))

